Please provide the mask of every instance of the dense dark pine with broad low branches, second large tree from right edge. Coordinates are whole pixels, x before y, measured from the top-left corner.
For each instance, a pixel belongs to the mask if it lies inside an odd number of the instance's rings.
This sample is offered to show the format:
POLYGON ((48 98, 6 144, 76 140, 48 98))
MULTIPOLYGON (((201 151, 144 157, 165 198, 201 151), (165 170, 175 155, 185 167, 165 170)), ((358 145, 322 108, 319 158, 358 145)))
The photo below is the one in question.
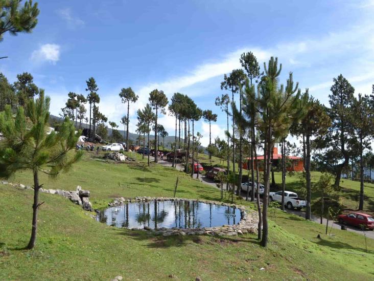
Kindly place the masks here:
POLYGON ((318 148, 324 149, 317 154, 317 159, 325 165, 325 168, 335 175, 334 185, 339 187, 341 171, 349 164, 352 157, 352 149, 349 147, 352 132, 351 112, 354 101, 355 89, 343 75, 334 78, 329 95, 330 109, 328 114, 332 125, 328 132, 318 138, 318 148))

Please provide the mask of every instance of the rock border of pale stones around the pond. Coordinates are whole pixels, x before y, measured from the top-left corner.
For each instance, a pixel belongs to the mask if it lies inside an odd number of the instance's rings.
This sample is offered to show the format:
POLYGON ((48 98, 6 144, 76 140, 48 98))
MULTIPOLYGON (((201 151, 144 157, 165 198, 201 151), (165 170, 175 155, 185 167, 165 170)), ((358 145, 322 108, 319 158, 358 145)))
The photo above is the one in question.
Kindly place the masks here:
MULTIPOLYGON (((144 230, 152 231, 157 235, 170 236, 170 235, 214 235, 214 236, 237 236, 245 233, 256 233, 258 231, 259 215, 254 210, 238 205, 222 203, 210 200, 194 200, 187 198, 173 198, 173 197, 135 197, 126 199, 124 197, 115 198, 113 202, 109 203, 109 207, 115 207, 132 202, 149 202, 149 201, 195 201, 206 204, 215 204, 221 206, 228 206, 237 208, 241 212, 241 220, 236 225, 223 225, 216 227, 203 227, 203 228, 165 228, 150 229, 144 227, 144 230)), ((143 230, 139 228, 132 228, 132 230, 143 230)))

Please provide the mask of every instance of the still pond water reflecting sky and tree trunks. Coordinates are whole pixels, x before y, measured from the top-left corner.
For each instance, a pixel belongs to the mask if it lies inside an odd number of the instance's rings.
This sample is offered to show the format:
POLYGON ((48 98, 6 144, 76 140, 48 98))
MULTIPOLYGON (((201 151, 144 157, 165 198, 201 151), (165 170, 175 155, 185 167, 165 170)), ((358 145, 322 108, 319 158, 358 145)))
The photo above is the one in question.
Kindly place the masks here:
POLYGON ((96 220, 120 228, 203 228, 237 224, 241 211, 197 201, 132 202, 109 207, 96 220))

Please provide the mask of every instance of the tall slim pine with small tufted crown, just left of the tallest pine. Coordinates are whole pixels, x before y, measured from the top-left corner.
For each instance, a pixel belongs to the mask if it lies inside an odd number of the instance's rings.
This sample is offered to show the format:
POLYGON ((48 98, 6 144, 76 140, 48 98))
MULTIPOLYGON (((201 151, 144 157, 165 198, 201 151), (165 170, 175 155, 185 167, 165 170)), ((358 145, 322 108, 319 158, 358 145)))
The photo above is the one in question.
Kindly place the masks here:
MULTIPOLYGON (((226 74, 224 75, 223 81, 221 82, 221 90, 229 90, 232 95, 231 102, 234 101, 234 94, 238 93, 241 89, 241 86, 244 84, 246 76, 242 69, 235 69, 233 70, 229 76, 226 74)), ((240 95, 240 104, 242 103, 240 95)), ((235 174, 235 120, 232 118, 232 172, 235 174)), ((242 147, 240 147, 240 150, 242 147)), ((241 183, 238 183, 238 188, 240 187, 241 183)))

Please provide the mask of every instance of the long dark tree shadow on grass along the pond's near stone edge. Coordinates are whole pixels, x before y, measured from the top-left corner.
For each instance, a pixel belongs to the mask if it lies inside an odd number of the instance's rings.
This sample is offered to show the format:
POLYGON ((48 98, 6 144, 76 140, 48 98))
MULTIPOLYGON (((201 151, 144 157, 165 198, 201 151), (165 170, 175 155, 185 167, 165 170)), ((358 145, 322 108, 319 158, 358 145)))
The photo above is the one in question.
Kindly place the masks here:
MULTIPOLYGON (((136 231, 119 229, 116 235, 123 235, 135 241, 148 242, 145 247, 148 248, 171 248, 171 247, 184 247, 191 243, 199 245, 221 245, 231 246, 239 243, 255 243, 260 244, 255 237, 249 234, 245 236, 209 236, 209 235, 171 235, 162 236, 155 235, 148 231, 136 231)), ((253 234, 254 235, 254 234, 253 234)))

